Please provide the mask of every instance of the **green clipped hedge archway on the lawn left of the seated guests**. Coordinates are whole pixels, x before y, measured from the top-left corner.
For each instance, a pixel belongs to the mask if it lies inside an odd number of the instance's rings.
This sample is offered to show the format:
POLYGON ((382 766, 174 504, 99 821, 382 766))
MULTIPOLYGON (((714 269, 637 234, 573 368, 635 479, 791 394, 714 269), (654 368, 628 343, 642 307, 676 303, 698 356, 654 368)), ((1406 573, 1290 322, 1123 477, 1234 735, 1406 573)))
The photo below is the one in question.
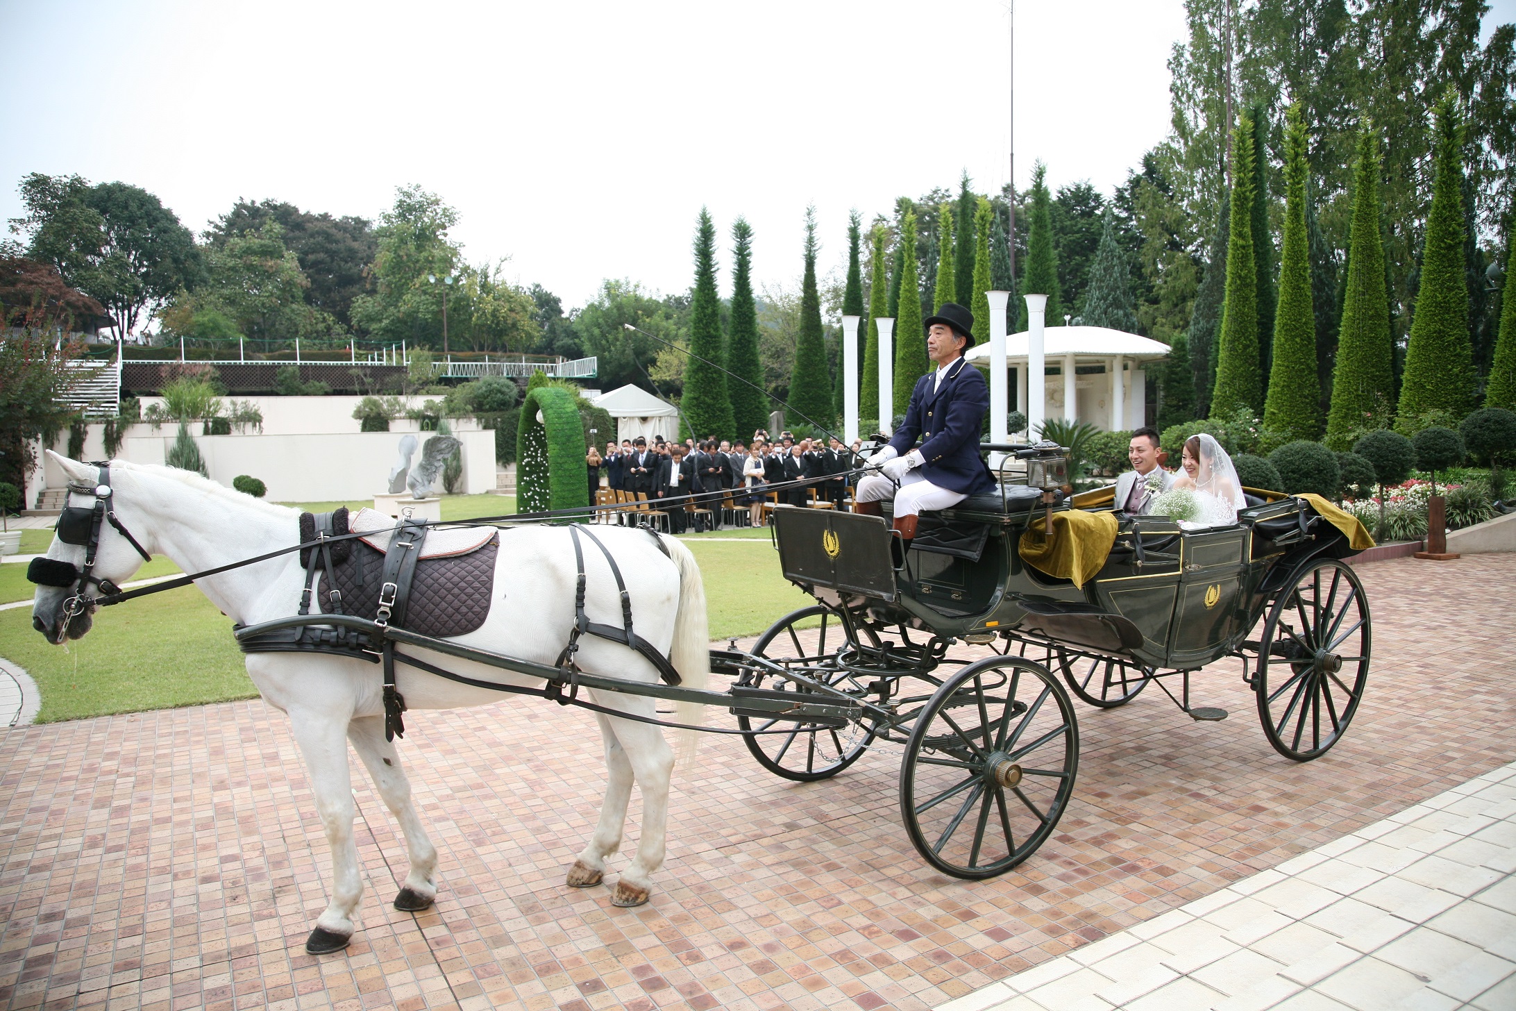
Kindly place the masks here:
POLYGON ((584 456, 584 426, 573 394, 558 387, 528 390, 515 434, 517 508, 546 512, 590 505, 584 456))

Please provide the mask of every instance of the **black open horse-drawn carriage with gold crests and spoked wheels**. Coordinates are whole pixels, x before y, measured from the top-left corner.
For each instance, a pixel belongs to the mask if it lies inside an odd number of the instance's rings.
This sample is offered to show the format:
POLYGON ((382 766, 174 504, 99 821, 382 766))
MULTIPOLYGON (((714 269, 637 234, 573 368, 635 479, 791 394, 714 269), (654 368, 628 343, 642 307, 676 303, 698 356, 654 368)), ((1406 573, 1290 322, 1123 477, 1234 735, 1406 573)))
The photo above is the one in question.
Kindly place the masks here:
POLYGON ((990 878, 1035 852, 1069 803, 1070 691, 1113 708, 1157 684, 1192 718, 1220 720, 1190 705, 1190 678, 1233 656, 1276 752, 1308 761, 1340 740, 1370 655, 1363 584, 1343 562, 1366 540, 1351 517, 1249 490, 1236 524, 1184 529, 1113 512, 1111 488, 1066 497, 1057 447, 985 449, 1004 458, 998 491, 925 514, 908 550, 885 518, 775 511, 784 574, 817 603, 747 653, 713 653, 714 668, 734 693, 857 708, 816 721, 734 709, 766 768, 825 779, 873 741, 904 744, 913 844, 944 873, 990 878), (1087 515, 1060 517, 1073 512, 1087 515), (1082 571, 1060 574, 1048 549, 1087 527, 1114 540, 1064 552, 1082 571), (949 658, 957 641, 991 655, 949 658))

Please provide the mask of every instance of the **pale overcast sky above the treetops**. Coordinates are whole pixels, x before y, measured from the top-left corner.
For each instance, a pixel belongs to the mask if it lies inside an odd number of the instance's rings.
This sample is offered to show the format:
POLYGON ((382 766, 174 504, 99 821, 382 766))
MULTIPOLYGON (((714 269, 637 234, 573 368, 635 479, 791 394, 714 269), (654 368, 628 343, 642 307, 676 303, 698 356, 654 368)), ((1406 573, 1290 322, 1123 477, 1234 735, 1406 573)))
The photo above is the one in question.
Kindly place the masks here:
MULTIPOLYGON (((1516 0, 1487 24, 1511 20, 1516 0)), ((1104 192, 1167 132, 1181 0, 1016 5, 1016 180, 1104 192)), ((238 197, 376 218, 420 183, 471 262, 508 256, 565 308, 603 277, 691 282, 705 205, 793 282, 816 203, 846 215, 1010 173, 1008 3, 0 0, 0 217, 30 171, 147 188, 191 229, 238 197)))

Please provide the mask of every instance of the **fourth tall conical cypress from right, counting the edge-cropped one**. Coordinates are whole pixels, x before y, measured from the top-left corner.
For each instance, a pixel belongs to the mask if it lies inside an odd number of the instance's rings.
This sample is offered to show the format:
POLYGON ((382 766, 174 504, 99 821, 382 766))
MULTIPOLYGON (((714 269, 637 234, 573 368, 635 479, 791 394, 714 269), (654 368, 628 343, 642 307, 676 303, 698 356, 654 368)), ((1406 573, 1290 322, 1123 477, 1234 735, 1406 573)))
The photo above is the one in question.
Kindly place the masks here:
POLYGON ((1289 441, 1322 432, 1316 377, 1316 308, 1311 300, 1310 239, 1305 229, 1305 121, 1299 103, 1284 127, 1284 250, 1280 256, 1280 308, 1273 320, 1273 362, 1263 426, 1289 441))

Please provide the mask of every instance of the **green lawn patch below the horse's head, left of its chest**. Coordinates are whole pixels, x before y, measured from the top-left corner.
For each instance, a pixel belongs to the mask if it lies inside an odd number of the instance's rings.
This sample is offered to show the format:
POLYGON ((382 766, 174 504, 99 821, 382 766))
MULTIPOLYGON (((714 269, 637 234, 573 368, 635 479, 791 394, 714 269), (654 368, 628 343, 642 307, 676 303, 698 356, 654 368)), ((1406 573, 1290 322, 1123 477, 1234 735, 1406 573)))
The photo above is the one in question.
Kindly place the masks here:
POLYGON ((258 694, 230 618, 194 587, 97 611, 94 629, 68 652, 32 631, 30 608, 0 611, 0 656, 36 681, 41 723, 258 694))

